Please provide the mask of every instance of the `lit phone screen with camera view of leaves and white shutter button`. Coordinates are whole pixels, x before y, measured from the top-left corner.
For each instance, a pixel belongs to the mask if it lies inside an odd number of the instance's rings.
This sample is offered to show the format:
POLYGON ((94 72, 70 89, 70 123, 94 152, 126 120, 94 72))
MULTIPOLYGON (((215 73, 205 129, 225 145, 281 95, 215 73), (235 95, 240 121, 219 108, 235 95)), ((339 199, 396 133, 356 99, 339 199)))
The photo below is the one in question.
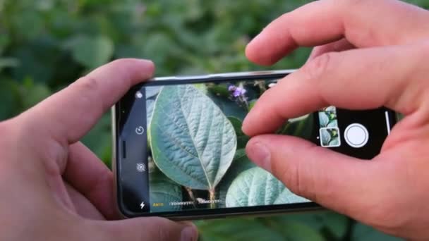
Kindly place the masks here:
MULTIPOLYGON (((310 202, 246 156, 249 137, 241 131, 243 119, 276 83, 268 79, 142 87, 134 97, 145 106, 146 122, 133 134, 146 141, 145 160, 131 170, 144 180, 136 209, 153 213, 310 202)), ((286 120, 276 133, 370 159, 389 132, 387 114, 327 106, 286 120)))

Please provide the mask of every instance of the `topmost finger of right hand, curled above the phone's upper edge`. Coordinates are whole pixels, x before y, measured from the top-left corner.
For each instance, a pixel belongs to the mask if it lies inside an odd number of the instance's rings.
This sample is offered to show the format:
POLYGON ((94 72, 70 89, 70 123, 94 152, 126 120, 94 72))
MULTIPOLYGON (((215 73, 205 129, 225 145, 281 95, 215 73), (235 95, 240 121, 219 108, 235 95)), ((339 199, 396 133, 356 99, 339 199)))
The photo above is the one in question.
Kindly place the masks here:
POLYGON ((429 36, 429 12, 401 1, 314 1, 268 25, 246 48, 255 63, 271 65, 299 46, 345 37, 356 47, 407 44, 429 36))

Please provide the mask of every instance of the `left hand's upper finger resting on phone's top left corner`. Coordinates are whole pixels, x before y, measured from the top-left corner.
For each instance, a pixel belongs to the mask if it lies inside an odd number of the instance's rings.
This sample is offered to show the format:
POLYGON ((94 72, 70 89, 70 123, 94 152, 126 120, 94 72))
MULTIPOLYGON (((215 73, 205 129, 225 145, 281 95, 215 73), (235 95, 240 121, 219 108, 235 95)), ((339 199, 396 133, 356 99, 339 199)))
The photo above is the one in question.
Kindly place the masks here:
POLYGON ((25 113, 26 120, 62 144, 74 143, 130 87, 150 78, 153 71, 151 61, 131 58, 113 61, 42 101, 25 113))

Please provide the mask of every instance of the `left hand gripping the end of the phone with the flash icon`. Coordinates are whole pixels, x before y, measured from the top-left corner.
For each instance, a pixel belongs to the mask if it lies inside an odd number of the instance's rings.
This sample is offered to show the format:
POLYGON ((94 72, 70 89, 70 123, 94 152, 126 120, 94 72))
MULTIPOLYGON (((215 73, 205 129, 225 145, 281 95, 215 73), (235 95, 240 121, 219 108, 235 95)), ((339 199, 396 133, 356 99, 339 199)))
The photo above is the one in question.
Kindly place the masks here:
POLYGON ((79 139, 150 61, 97 68, 32 109, 0 123, 0 240, 196 240, 191 223, 119 218, 113 175, 79 139))

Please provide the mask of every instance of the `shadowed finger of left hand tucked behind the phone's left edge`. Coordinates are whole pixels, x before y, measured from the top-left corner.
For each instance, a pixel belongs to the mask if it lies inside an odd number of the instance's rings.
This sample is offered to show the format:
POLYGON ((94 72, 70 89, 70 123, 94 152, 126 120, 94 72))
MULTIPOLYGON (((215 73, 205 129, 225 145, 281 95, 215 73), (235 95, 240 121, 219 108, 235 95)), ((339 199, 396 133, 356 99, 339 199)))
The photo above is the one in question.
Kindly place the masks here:
POLYGON ((80 142, 71 144, 64 180, 83 195, 107 219, 119 218, 114 202, 113 174, 80 142))

